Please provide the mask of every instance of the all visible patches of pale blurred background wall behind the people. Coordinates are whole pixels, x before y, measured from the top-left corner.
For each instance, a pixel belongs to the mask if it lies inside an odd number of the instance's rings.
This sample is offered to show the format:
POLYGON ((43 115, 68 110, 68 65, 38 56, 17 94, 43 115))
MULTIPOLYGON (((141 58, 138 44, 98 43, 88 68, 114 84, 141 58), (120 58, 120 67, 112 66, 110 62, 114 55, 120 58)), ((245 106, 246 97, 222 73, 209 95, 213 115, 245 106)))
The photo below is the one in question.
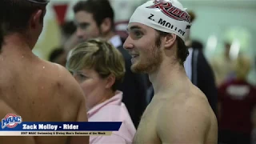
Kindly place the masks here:
MULTIPOLYGON (((68 4, 65 19, 72 20, 72 7, 78 0, 50 0, 47 6, 45 27, 34 49, 34 54, 47 59, 50 50, 60 43, 60 31, 54 6, 68 4)), ((130 18, 135 8, 146 0, 110 0, 115 20, 130 18)), ((191 28, 191 38, 200 40, 210 60, 222 54, 223 42, 237 40, 240 49, 255 59, 256 56, 256 0, 181 0, 197 18, 191 28)), ((254 61, 254 63, 256 63, 254 61)), ((255 66, 255 65, 254 65, 255 66)), ((256 84, 256 72, 251 71, 250 82, 256 84)))

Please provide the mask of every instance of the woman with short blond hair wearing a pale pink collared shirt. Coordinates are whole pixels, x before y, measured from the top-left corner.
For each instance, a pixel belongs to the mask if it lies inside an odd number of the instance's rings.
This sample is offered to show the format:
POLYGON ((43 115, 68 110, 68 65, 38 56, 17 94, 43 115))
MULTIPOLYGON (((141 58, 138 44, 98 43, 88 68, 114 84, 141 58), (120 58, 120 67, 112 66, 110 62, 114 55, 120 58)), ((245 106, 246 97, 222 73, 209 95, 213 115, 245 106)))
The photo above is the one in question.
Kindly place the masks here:
POLYGON ((67 68, 86 95, 89 122, 122 122, 111 136, 91 136, 90 143, 131 143, 136 130, 117 89, 125 74, 122 54, 106 41, 91 39, 72 50, 67 68))

